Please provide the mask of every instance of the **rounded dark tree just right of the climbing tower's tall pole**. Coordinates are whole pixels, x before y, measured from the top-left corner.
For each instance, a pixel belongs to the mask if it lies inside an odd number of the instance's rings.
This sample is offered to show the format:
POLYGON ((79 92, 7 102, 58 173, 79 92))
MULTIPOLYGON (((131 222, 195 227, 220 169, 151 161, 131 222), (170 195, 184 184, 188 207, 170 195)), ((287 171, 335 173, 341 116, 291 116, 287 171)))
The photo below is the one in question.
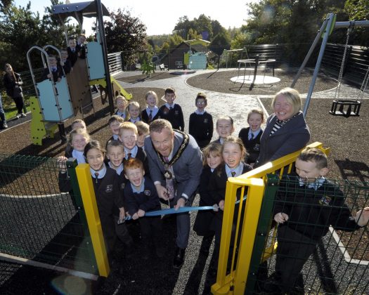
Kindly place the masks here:
POLYGON ((110 21, 105 21, 104 27, 108 51, 122 51, 124 65, 135 62, 134 51, 146 49, 146 26, 139 18, 131 16, 130 11, 119 8, 110 13, 110 21))

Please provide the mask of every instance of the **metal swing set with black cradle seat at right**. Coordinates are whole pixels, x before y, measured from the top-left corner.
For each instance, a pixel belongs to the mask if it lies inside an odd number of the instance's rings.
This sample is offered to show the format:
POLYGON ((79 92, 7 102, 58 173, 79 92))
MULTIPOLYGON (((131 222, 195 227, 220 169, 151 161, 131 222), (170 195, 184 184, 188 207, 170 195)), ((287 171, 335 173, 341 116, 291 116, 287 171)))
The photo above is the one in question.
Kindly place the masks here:
POLYGON ((344 117, 350 117, 350 116, 359 116, 360 115, 360 107, 361 107, 361 100, 363 100, 366 86, 368 85, 369 80, 369 65, 365 72, 365 76, 363 78, 363 82, 361 84, 361 89, 359 91, 358 96, 356 99, 349 99, 349 98, 340 98, 340 91, 341 91, 341 85, 342 85, 342 77, 344 74, 344 67, 347 65, 347 48, 349 48, 349 37, 350 34, 353 32, 354 27, 369 27, 369 20, 350 20, 347 22, 336 22, 336 15, 334 13, 329 13, 327 15, 327 18, 323 21, 323 25, 321 26, 321 29, 319 29, 318 34, 316 35, 316 38, 313 41, 313 44, 311 45, 311 48, 309 49, 308 53, 306 54, 306 57, 304 59, 304 62, 302 63, 301 67, 299 68, 299 71, 297 72, 296 76, 294 77, 294 80, 292 81, 291 87, 293 88, 294 85, 297 82, 297 79, 299 79, 302 70, 304 70, 304 67, 306 66, 306 63, 308 62, 311 54, 313 53, 314 48, 316 48, 316 45, 320 41, 321 37, 323 38, 322 44, 321 44, 321 50, 319 51, 318 59, 316 61, 316 67, 313 72, 313 78, 311 79, 311 83, 309 86, 309 91, 306 96, 306 102, 304 105, 304 116, 306 117, 306 112, 309 108, 309 103, 311 100, 311 95, 313 93, 313 88, 316 83, 316 78, 318 77, 318 72, 321 67, 321 62, 323 60, 323 55, 325 51, 325 46, 328 43, 328 37, 332 33, 333 29, 340 29, 340 28, 347 28, 347 39, 346 44, 344 46, 344 53, 342 56, 342 63, 339 68, 339 76, 338 76, 338 85, 335 91, 335 98, 332 102, 332 108, 330 110, 330 114, 333 115, 342 115, 344 117))

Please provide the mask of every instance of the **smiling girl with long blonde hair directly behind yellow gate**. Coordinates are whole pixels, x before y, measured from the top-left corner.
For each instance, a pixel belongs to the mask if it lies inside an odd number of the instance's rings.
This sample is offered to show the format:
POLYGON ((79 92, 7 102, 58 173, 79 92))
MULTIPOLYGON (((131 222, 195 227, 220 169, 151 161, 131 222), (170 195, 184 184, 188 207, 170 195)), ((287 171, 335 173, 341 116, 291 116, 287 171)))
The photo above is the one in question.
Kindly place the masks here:
MULTIPOLYGON (((209 180, 209 195, 213 204, 218 204, 219 211, 215 212, 211 228, 215 232, 215 249, 219 250, 221 238, 221 223, 223 220, 224 199, 226 197, 226 183, 228 177, 237 177, 252 170, 249 164, 243 162, 247 154, 240 138, 228 136, 221 145, 221 156, 224 165, 219 165, 209 180)), ((240 196, 238 196, 240 199, 240 196)), ((236 209, 237 210, 237 209, 236 209)), ((235 214, 236 217, 236 214, 235 214)))

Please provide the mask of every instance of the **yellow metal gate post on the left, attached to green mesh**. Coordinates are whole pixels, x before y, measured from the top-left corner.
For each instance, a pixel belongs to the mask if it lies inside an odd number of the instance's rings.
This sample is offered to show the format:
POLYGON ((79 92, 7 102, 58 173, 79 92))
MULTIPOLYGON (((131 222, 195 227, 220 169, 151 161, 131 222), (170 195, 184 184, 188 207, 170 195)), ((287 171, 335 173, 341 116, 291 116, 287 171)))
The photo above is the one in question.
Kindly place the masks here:
POLYGON ((93 251, 95 252, 96 263, 98 265, 98 273, 102 277, 108 277, 110 273, 108 255, 106 254, 103 230, 101 229, 100 216, 98 215, 98 206, 95 191, 93 190, 89 164, 79 164, 76 168, 76 173, 87 225, 89 225, 93 251))

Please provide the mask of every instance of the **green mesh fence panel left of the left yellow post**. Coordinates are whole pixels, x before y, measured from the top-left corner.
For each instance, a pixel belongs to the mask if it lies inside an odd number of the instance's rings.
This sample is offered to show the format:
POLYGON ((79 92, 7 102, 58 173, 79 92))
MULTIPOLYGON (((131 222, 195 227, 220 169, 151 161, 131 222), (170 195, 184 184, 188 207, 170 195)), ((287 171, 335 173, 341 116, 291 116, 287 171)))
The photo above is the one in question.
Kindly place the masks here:
POLYGON ((56 159, 0 155, 0 252, 96 273, 86 219, 58 172, 56 159))

